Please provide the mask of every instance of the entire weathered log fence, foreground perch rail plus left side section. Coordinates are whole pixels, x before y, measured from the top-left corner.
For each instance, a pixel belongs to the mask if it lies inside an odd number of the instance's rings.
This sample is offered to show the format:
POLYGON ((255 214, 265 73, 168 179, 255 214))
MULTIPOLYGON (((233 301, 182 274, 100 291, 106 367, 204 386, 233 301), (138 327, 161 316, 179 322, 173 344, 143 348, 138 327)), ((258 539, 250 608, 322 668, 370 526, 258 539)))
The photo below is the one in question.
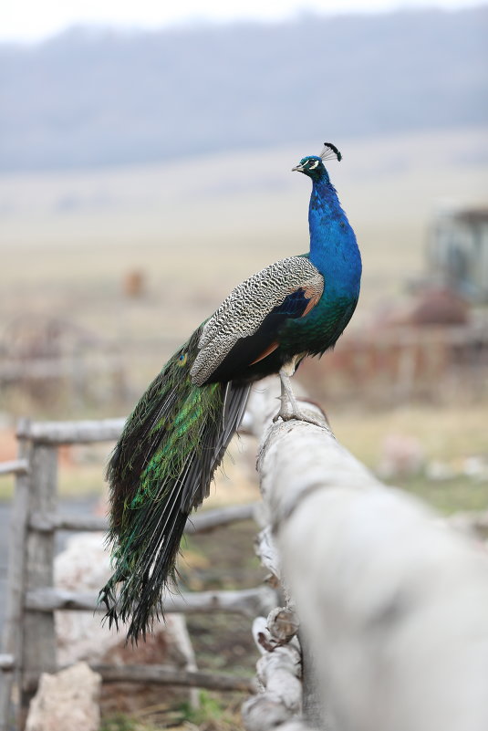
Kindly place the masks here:
MULTIPOLYGON (((260 385, 245 425, 261 437, 265 527, 259 553, 272 586, 281 584, 283 606, 275 608, 275 592, 265 588, 191 593, 183 605, 171 606, 259 615, 253 626, 262 654, 258 693, 244 704, 244 726, 248 731, 486 731, 483 544, 419 501, 380 484, 337 443, 325 418, 322 426, 272 423, 275 395, 260 385)), ((315 415, 320 416, 317 409, 315 415)), ((101 525, 94 518, 57 515, 57 445, 111 440, 119 429, 120 422, 19 428, 19 459, 10 465, 17 483, 14 560, 0 666, 12 669, 4 677, 22 691, 21 706, 40 671, 55 669, 53 611, 95 608, 94 596, 53 587, 55 531, 101 525)), ((225 520, 254 511, 241 509, 225 520)), ((202 520, 214 526, 223 515, 202 514, 193 524, 198 529, 202 520)), ((210 674, 99 669, 108 681, 217 687, 210 674)), ((217 677, 221 688, 252 686, 246 679, 217 677)))

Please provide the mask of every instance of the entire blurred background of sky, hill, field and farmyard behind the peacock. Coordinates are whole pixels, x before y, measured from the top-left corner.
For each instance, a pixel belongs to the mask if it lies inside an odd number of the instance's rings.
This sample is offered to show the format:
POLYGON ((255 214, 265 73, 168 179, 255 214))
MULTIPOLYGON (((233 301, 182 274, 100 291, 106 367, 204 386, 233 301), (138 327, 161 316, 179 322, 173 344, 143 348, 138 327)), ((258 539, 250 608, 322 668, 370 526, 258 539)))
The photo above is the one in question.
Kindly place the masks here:
MULTIPOLYGON (((380 475, 486 508, 488 5, 119 5, 3 10, 0 459, 20 415, 128 413, 232 287, 305 252, 291 167, 333 141, 362 293, 297 379, 380 475)), ((66 450, 62 494, 98 493, 106 454, 66 450)))

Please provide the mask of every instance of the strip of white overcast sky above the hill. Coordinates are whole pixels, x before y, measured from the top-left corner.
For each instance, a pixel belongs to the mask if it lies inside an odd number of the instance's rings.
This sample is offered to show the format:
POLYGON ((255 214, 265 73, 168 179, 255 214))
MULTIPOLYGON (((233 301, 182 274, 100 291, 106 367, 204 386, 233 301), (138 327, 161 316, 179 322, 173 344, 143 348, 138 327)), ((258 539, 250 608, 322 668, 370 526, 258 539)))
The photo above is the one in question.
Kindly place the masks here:
POLYGON ((457 9, 483 4, 483 0, 0 0, 0 40, 41 40, 77 24, 157 28, 195 20, 274 20, 304 11, 457 9))

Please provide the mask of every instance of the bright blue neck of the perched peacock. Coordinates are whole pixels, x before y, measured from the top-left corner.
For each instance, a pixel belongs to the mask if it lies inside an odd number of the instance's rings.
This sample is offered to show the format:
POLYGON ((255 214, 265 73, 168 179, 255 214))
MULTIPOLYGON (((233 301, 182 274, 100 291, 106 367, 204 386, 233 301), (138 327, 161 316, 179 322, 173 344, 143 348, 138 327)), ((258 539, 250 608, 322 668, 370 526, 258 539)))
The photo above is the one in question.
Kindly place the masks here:
POLYGON ((356 235, 340 207, 327 172, 313 180, 308 225, 310 261, 325 278, 325 296, 358 298, 361 256, 356 235))

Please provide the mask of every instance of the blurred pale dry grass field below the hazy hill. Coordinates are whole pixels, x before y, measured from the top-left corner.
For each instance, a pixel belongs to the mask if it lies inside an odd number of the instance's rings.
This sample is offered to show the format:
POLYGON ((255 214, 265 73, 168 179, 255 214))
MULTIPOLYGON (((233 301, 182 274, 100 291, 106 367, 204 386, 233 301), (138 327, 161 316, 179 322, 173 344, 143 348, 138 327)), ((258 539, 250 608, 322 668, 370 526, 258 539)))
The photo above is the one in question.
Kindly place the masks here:
MULTIPOLYGON (((439 205, 486 200, 488 134, 341 142, 344 161, 329 164, 364 259, 358 325, 421 274, 439 205)), ((0 336, 36 312, 107 338, 181 339, 245 276, 306 251, 309 183, 290 169, 319 147, 0 176, 0 336), (127 300, 133 269, 146 296, 127 300)))

